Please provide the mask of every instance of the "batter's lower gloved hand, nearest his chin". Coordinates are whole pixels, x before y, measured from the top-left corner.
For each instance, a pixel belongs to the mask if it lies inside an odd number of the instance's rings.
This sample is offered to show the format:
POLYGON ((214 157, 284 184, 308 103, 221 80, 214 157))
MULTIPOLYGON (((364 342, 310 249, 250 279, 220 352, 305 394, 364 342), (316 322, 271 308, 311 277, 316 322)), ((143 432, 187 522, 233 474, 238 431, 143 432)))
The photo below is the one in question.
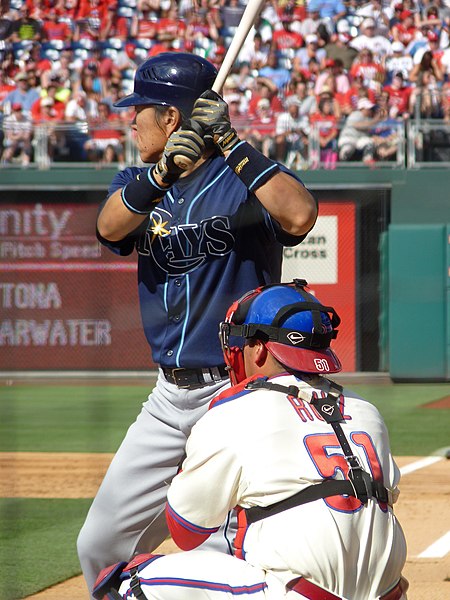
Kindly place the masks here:
POLYGON ((187 165, 191 166, 201 158, 205 151, 205 142, 202 137, 191 129, 174 131, 166 142, 163 155, 154 167, 154 173, 160 177, 164 184, 173 185, 180 175, 186 171, 187 165), (175 164, 177 157, 178 165, 175 164), (180 162, 186 158, 186 165, 180 162))

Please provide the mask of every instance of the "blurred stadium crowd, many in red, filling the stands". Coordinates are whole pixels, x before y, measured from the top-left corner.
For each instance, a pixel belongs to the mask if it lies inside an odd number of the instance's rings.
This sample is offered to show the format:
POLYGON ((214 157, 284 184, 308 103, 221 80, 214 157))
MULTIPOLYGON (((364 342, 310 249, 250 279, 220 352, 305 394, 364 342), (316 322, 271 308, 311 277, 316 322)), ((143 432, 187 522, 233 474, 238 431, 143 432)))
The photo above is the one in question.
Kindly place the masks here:
MULTIPOLYGON (((122 165, 133 115, 114 102, 136 67, 219 67, 245 4, 1 0, 2 164, 27 166, 44 131, 51 160, 122 165)), ((449 24, 450 0, 267 0, 223 89, 232 122, 298 168, 394 160, 408 119, 450 124, 449 24)))

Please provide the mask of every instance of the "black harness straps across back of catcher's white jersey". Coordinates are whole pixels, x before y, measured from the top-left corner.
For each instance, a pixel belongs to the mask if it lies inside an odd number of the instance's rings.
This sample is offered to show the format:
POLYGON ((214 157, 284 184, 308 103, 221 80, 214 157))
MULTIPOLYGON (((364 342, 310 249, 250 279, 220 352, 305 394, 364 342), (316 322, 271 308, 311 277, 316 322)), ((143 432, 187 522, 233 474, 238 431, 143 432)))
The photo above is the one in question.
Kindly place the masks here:
MULTIPOLYGON (((345 459, 349 465, 348 479, 324 479, 321 483, 310 485, 309 487, 297 492, 289 498, 280 500, 270 506, 252 506, 245 509, 247 523, 255 523, 265 517, 270 517, 294 506, 300 506, 308 502, 314 502, 320 498, 329 496, 354 496, 363 504, 367 504, 369 498, 376 498, 379 502, 388 502, 389 495, 387 489, 381 481, 374 481, 371 475, 365 471, 357 456, 351 451, 350 444, 342 430, 341 423, 344 418, 339 408, 338 399, 342 393, 342 387, 334 382, 330 382, 332 387, 337 390, 338 395, 331 392, 326 398, 315 398, 311 404, 320 413, 326 423, 332 426, 334 433, 344 452, 345 459)), ((249 389, 266 389, 275 392, 282 392, 288 396, 298 397, 299 389, 296 386, 283 386, 271 383, 265 379, 251 381, 246 386, 249 389)))

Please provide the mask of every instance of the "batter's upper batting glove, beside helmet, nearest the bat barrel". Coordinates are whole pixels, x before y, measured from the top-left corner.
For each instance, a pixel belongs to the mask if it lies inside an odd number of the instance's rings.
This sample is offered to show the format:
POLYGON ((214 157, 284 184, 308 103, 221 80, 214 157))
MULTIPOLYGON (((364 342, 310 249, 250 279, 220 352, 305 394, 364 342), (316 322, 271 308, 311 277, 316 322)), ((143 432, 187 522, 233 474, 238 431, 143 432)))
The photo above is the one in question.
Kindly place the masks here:
POLYGON ((191 121, 198 123, 205 135, 212 136, 222 154, 240 141, 236 130, 231 126, 228 104, 212 90, 206 90, 195 101, 191 121))

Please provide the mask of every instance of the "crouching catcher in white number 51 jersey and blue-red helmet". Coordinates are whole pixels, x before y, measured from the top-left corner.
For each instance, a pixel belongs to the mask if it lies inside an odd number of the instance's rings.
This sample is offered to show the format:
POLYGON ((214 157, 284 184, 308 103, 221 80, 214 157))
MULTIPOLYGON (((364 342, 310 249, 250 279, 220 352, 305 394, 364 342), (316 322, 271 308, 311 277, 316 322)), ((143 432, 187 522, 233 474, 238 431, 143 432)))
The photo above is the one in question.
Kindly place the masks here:
POLYGON ((119 569, 120 597, 406 598, 386 427, 374 406, 323 376, 340 370, 329 347, 338 324, 300 281, 231 307, 221 330, 238 383, 193 427, 166 512, 189 550, 237 506, 236 556, 138 557, 119 569))

